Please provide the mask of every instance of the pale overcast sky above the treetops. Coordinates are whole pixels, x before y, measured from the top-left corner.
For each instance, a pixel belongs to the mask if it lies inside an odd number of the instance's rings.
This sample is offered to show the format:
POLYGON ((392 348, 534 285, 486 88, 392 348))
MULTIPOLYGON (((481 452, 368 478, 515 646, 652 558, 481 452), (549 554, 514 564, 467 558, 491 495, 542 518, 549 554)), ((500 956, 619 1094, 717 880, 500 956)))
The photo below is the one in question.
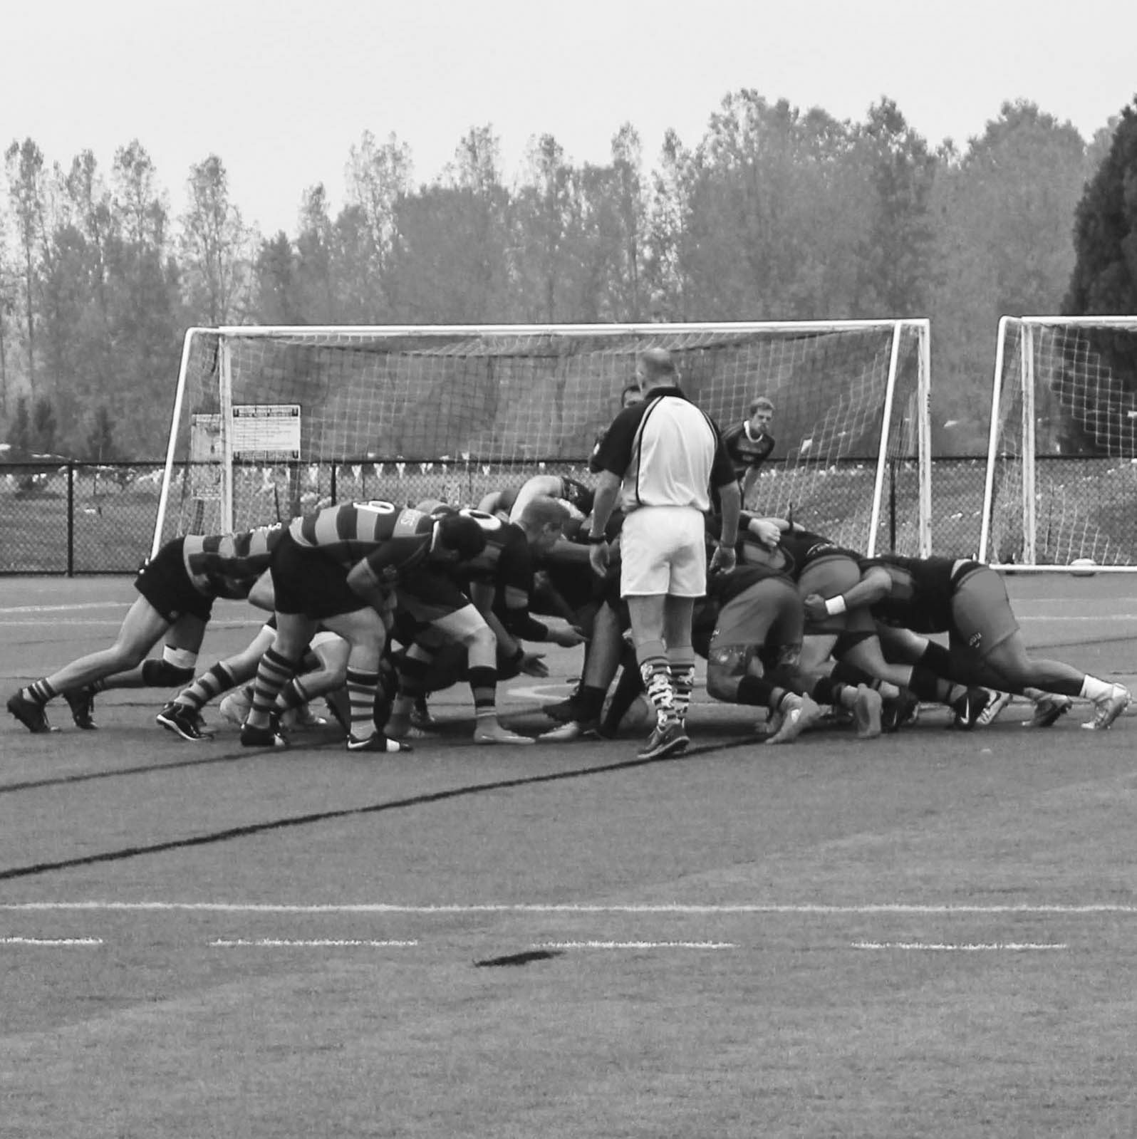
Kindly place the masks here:
POLYGON ((963 147, 1028 99, 1087 140, 1137 95, 1137 0, 5 0, 0 145, 109 167, 138 139, 173 213, 191 164, 223 161, 265 233, 308 187, 333 212, 365 131, 433 179, 472 126, 516 177, 534 137, 605 162, 630 122, 655 165, 722 97, 864 121, 882 96, 933 146, 963 147))

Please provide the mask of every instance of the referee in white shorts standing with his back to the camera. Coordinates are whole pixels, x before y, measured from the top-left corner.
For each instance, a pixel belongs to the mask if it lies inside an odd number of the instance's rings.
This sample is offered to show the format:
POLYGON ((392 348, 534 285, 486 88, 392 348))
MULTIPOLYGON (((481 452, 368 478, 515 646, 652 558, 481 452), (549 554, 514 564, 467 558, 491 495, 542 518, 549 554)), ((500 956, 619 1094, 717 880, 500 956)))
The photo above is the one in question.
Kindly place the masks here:
POLYGON ((664 349, 640 353, 636 378, 644 401, 612 421, 597 456, 600 467, 589 528, 589 560, 604 575, 605 527, 619 500, 620 593, 628 603, 636 661, 657 723, 640 759, 677 754, 687 737, 687 705, 695 685, 692 620, 706 592, 704 515, 711 491, 722 502, 722 532, 711 570, 735 565, 741 494, 714 421, 679 387, 664 349))

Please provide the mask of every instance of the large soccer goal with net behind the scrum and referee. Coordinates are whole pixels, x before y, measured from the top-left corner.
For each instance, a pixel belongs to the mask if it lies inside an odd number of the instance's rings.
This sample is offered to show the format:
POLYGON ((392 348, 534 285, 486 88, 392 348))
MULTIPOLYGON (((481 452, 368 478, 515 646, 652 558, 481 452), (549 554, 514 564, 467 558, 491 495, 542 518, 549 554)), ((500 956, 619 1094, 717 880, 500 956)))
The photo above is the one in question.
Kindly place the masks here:
POLYGON ((476 502, 538 472, 591 482, 648 347, 726 429, 775 403, 756 508, 857 549, 931 547, 926 320, 191 328, 155 549, 324 501, 476 502))

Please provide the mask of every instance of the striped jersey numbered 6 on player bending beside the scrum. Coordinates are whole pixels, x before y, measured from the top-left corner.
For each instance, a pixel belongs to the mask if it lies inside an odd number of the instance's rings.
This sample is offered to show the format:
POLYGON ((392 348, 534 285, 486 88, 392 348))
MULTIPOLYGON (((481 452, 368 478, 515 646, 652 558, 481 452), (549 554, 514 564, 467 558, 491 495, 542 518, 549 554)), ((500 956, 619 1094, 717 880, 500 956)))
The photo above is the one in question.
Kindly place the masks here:
POLYGON ((435 515, 391 502, 349 502, 294 518, 288 533, 345 566, 366 560, 391 583, 426 560, 434 522, 435 515))

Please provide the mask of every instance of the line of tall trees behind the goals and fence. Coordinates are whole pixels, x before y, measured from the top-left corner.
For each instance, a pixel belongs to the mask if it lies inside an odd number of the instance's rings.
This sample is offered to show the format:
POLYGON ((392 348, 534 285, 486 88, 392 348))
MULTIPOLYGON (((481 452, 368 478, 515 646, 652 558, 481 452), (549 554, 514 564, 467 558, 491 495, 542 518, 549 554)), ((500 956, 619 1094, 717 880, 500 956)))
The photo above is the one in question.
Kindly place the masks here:
POLYGON ((141 142, 5 151, 0 437, 9 453, 164 453, 191 325, 596 323, 930 317, 933 446, 980 453, 998 318, 1137 313, 1137 99, 1085 140, 1004 104, 964 148, 932 148, 890 99, 864 122, 726 96, 693 147, 648 164, 632 125, 611 161, 535 139, 509 185, 492 128, 435 180, 365 133, 345 204, 300 195, 264 236, 226 166, 191 166, 175 214, 141 142), (1128 187, 1128 189, 1127 189, 1128 187))

